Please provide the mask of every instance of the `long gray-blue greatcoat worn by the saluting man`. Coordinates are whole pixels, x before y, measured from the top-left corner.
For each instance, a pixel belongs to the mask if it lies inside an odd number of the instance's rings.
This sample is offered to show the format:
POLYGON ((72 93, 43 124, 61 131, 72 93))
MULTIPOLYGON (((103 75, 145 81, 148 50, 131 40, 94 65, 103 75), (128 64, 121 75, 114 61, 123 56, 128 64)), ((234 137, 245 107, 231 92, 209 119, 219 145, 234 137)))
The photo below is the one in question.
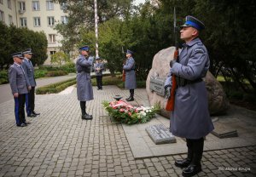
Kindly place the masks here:
POLYGON ((86 101, 93 100, 93 91, 91 86, 90 69, 92 66, 93 58, 85 57, 80 54, 77 62, 77 93, 78 100, 86 101))

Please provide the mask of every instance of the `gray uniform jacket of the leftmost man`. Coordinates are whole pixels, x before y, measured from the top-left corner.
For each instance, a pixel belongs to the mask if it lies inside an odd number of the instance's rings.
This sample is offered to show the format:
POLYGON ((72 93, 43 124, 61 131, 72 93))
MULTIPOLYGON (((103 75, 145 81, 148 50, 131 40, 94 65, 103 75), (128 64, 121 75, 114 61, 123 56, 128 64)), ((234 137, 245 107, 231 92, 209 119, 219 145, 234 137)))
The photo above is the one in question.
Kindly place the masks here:
POLYGON ((9 85, 12 89, 12 94, 27 94, 27 87, 30 86, 26 77, 25 71, 18 64, 9 67, 9 85))

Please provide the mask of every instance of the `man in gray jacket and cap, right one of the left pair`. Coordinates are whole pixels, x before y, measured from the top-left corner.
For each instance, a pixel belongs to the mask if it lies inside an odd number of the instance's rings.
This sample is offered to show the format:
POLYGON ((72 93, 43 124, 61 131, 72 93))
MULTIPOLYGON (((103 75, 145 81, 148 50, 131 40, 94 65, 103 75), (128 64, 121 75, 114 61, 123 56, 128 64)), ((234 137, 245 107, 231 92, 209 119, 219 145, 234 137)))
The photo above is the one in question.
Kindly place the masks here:
POLYGON ((26 98, 26 114, 27 117, 37 117, 40 113, 34 111, 35 109, 35 87, 37 86, 35 75, 34 75, 34 67, 32 65, 32 49, 26 49, 23 52, 24 59, 22 61, 21 66, 23 67, 26 77, 28 78, 28 82, 31 85, 31 90, 27 94, 26 98))

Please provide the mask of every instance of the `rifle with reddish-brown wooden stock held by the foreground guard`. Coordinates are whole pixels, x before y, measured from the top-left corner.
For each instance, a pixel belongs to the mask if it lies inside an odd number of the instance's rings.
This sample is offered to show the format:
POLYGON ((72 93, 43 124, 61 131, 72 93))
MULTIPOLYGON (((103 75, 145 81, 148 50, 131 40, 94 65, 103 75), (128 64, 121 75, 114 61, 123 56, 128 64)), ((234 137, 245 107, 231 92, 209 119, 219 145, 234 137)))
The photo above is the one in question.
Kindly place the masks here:
MULTIPOLYGON (((178 43, 177 43, 177 37, 176 37, 176 31, 177 31, 177 26, 176 26, 176 12, 175 12, 175 7, 173 9, 173 28, 174 28, 174 41, 175 41, 175 52, 173 54, 173 60, 176 60, 179 62, 179 54, 178 54, 178 43)), ((175 90, 177 88, 177 81, 176 81, 176 76, 172 74, 172 88, 171 88, 171 96, 167 100, 166 103, 166 111, 173 111, 174 110, 174 101, 175 101, 175 90)))

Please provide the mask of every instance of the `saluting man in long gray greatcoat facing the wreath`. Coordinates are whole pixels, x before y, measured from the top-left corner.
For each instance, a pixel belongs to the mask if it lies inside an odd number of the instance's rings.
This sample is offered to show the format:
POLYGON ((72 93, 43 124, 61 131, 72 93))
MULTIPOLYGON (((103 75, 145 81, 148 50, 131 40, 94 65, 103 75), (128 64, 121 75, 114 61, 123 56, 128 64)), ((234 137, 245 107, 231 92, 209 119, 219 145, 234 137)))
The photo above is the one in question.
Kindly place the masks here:
POLYGON ((77 93, 82 111, 82 119, 91 120, 92 115, 86 112, 86 101, 93 100, 93 91, 91 86, 90 70, 93 58, 90 57, 90 48, 85 45, 79 48, 79 57, 76 62, 77 69, 77 93))

